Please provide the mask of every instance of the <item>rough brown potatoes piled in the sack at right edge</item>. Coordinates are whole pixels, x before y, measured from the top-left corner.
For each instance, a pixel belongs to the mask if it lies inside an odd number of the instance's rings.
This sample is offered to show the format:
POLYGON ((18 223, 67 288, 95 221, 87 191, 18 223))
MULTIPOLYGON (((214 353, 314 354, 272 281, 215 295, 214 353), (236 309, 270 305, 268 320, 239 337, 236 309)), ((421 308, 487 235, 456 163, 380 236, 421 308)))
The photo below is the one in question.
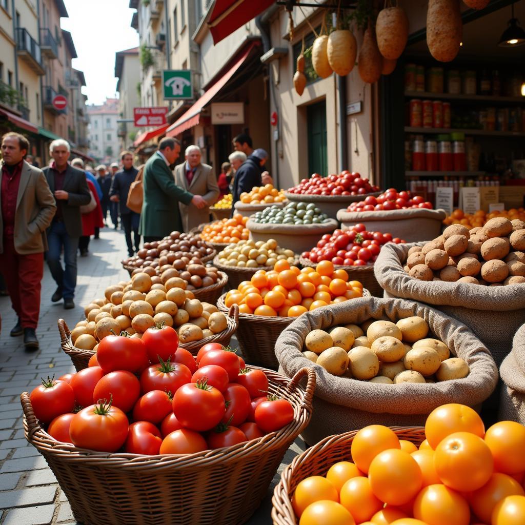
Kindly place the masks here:
POLYGON ((525 283, 525 222, 495 217, 470 230, 452 224, 425 246, 410 248, 404 269, 422 281, 525 283))

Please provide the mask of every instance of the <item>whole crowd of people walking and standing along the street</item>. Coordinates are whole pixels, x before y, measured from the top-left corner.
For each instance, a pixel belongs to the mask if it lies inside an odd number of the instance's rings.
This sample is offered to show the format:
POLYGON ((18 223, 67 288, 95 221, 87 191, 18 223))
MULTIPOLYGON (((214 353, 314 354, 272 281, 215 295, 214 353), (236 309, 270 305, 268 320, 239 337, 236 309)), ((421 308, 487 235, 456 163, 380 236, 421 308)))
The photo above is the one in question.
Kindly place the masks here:
POLYGON ((27 138, 6 133, 0 161, 0 274, 18 317, 10 335, 23 335, 28 350, 38 348, 44 260, 57 285, 51 301, 75 307, 77 255, 89 254, 90 239, 100 238, 100 229, 109 226, 108 212, 113 228, 120 219, 132 256, 141 237, 151 242, 173 230, 188 232, 210 220, 209 207, 223 195, 233 193, 235 203, 253 186, 272 183, 265 150, 254 150, 246 134, 237 135, 233 145, 229 162, 216 174, 196 145, 188 146, 177 164, 181 144, 174 138, 162 139, 138 169, 133 153, 123 151, 121 165, 112 163, 109 170, 70 160, 69 143, 57 139, 49 146, 53 160, 40 170, 27 162, 27 138))

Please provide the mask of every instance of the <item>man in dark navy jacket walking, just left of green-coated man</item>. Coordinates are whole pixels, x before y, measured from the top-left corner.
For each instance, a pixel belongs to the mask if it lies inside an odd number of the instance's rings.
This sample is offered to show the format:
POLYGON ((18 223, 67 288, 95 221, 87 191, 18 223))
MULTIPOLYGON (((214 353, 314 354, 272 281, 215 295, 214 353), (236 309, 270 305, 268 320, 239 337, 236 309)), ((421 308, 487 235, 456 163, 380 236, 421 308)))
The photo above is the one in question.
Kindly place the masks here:
POLYGON ((128 208, 126 202, 128 201, 130 186, 135 181, 135 178, 137 178, 139 171, 133 167, 133 153, 131 153, 131 151, 123 151, 120 154, 120 158, 122 160, 122 170, 118 171, 113 177, 109 198, 112 202, 119 204, 120 223, 124 228, 124 236, 126 239, 126 245, 128 246, 128 255, 132 257, 135 255, 135 252, 139 251, 140 214, 135 213, 128 208), (131 241, 132 231, 134 244, 131 241))

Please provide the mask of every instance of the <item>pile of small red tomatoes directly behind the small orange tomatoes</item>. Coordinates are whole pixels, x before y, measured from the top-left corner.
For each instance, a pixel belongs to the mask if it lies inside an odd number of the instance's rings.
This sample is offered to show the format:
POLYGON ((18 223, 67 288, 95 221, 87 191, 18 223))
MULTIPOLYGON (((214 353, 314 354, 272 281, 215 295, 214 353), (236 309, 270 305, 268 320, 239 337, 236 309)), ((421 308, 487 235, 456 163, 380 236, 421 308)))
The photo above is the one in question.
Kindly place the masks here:
POLYGON ((356 224, 348 230, 337 229, 325 234, 317 246, 303 251, 301 257, 312 262, 332 261, 344 266, 366 266, 377 259, 385 243, 404 243, 403 239, 392 238, 390 233, 367 232, 364 224, 356 224))

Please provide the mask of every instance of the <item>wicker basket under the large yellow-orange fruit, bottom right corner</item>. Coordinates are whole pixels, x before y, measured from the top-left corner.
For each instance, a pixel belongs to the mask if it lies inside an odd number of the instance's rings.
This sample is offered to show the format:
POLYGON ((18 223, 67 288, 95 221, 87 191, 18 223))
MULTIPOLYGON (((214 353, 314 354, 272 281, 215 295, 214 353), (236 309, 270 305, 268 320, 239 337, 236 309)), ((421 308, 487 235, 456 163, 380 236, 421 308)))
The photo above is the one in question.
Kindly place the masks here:
MULTIPOLYGON (((425 439, 423 427, 390 427, 400 439, 406 439, 419 446, 425 439)), ((281 480, 274 489, 271 502, 271 519, 274 525, 296 525, 297 519, 292 508, 293 492, 299 482, 309 476, 325 476, 328 469, 338 461, 352 461, 350 447, 357 430, 337 436, 329 436, 317 445, 293 458, 281 474, 281 480)))

